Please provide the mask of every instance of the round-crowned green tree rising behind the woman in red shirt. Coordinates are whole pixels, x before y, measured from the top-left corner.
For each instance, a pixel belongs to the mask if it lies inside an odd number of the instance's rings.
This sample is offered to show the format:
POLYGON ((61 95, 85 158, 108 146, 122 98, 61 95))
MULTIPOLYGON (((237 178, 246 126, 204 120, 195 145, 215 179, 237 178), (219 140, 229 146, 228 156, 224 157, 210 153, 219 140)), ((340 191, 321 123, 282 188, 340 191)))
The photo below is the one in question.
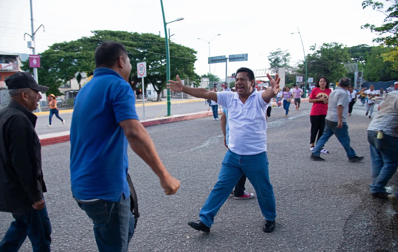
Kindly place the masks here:
MULTIPOLYGON (((312 54, 307 55, 308 76, 317 79, 325 76, 330 82, 337 82, 347 74, 344 63, 351 62, 348 48, 343 44, 332 42, 324 43, 317 48, 316 44, 310 47, 312 54)), ((304 63, 298 65, 298 72, 304 73, 304 63)))

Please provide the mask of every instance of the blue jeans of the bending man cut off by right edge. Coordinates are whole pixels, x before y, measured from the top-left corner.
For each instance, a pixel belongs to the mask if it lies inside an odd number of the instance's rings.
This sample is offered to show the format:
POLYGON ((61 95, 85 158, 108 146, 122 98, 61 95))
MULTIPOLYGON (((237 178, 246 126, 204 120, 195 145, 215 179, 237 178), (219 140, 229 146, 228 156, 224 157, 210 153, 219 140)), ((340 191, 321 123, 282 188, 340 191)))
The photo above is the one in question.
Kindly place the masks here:
POLYGON ((372 193, 385 192, 385 186, 397 170, 398 166, 398 137, 384 133, 384 138, 377 139, 375 131, 368 131, 368 142, 371 149, 372 193))

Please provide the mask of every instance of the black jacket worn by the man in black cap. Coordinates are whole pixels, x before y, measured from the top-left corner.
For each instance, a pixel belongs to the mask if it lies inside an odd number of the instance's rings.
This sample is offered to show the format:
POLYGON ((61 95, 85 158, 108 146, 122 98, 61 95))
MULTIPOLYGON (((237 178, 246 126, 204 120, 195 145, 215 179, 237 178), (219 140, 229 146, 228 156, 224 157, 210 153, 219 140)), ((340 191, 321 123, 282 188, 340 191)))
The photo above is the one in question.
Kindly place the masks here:
POLYGON ((41 171, 41 146, 35 132, 37 117, 10 102, 0 110, 0 211, 30 207, 47 192, 41 171))

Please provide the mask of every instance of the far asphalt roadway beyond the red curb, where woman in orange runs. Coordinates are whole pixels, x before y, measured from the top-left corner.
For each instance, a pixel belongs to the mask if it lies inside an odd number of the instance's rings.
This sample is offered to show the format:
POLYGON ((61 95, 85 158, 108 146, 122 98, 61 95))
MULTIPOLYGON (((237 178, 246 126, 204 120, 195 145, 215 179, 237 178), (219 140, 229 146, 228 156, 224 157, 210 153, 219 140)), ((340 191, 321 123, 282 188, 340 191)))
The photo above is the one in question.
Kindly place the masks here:
MULTIPOLYGON (((147 102, 150 105, 145 106, 145 119, 151 119, 154 117, 162 117, 167 115, 167 105, 159 104, 154 105, 152 102, 147 102)), ((208 105, 205 105, 205 100, 200 100, 197 102, 184 102, 184 103, 173 103, 171 105, 172 115, 185 114, 185 113, 193 113, 205 111, 209 108, 208 105)), ((144 119, 143 108, 142 106, 136 106, 137 114, 140 117, 140 120, 144 119)), ((211 111, 209 112, 211 113, 211 111)), ((66 121, 65 125, 62 125, 61 121, 53 115, 51 128, 47 127, 49 124, 49 115, 39 115, 37 116, 36 123, 36 132, 38 135, 47 134, 47 133, 55 133, 61 131, 70 130, 70 122, 72 121, 72 112, 68 113, 60 113, 59 114, 62 119, 66 121)))

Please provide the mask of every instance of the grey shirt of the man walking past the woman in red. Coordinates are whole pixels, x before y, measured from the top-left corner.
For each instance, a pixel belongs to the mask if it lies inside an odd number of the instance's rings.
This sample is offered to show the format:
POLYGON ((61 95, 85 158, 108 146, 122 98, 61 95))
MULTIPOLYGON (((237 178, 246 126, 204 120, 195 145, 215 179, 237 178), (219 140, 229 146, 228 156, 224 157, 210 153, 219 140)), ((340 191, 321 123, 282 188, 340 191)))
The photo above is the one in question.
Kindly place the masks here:
POLYGON ((337 116, 337 107, 343 106, 343 122, 346 122, 347 113, 348 113, 348 93, 344 88, 338 87, 333 92, 329 94, 328 100, 328 114, 326 115, 326 119, 329 121, 339 121, 339 117, 337 116))

